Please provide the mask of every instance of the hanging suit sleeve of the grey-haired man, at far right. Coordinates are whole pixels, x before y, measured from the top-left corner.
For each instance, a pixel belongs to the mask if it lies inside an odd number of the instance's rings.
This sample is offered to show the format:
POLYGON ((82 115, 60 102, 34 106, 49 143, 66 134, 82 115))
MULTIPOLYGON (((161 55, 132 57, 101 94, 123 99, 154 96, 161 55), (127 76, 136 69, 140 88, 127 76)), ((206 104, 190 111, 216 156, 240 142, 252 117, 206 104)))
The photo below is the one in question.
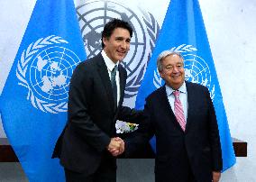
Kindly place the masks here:
POLYGON ((213 171, 220 171, 223 168, 222 160, 222 150, 220 143, 220 136, 218 130, 218 123, 215 115, 215 107, 213 105, 212 99, 208 90, 206 89, 206 97, 209 105, 209 121, 210 121, 210 141, 212 149, 212 159, 213 159, 213 171))

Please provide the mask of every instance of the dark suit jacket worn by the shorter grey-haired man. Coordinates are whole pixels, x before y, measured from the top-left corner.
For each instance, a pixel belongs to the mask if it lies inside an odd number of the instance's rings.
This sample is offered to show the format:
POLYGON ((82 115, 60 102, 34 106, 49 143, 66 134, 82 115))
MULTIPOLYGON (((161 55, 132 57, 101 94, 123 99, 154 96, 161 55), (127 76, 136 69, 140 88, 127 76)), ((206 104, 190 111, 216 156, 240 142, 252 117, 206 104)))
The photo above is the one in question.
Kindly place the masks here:
POLYGON ((197 182, 212 181, 212 171, 222 169, 222 151, 215 108, 206 86, 186 82, 187 125, 183 132, 171 110, 165 86, 146 99, 138 132, 125 141, 126 155, 156 136, 156 181, 186 182, 192 170, 197 182))

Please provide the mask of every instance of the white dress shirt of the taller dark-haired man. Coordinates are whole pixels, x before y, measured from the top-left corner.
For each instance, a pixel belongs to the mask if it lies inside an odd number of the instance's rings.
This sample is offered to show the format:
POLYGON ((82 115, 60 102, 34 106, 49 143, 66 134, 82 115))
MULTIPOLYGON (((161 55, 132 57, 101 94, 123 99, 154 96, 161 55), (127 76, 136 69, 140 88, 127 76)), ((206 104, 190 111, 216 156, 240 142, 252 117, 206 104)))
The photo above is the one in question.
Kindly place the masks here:
POLYGON ((117 102, 116 102, 116 105, 118 106, 118 103, 120 101, 120 78, 119 78, 119 71, 118 71, 119 61, 117 61, 117 63, 114 64, 114 62, 106 56, 104 50, 101 51, 101 55, 102 55, 102 57, 105 61, 105 66, 106 66, 107 71, 108 71, 109 80, 111 80, 111 71, 112 71, 112 69, 114 68, 115 65, 117 67, 116 75, 115 75, 115 82, 116 82, 116 87, 117 87, 117 102))

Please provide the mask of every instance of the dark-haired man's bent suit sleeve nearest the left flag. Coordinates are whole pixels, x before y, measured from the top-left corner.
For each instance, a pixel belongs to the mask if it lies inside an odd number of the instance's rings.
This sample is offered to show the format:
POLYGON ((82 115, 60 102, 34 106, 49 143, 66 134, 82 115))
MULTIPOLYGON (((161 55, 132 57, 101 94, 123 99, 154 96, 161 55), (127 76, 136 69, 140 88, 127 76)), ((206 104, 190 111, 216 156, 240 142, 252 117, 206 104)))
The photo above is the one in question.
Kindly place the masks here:
POLYGON ((92 96, 92 74, 83 64, 75 69, 69 88, 69 127, 82 140, 98 151, 110 143, 110 137, 92 120, 89 114, 89 99, 92 96))

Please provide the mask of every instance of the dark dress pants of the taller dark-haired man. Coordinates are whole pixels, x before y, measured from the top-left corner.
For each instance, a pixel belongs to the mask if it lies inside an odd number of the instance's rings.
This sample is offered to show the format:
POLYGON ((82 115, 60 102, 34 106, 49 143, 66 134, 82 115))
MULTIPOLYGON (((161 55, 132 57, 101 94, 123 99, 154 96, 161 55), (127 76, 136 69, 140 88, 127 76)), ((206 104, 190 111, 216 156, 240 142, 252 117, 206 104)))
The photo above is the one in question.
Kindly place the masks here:
POLYGON ((116 159, 106 152, 93 174, 87 175, 64 169, 67 182, 116 182, 116 159))

